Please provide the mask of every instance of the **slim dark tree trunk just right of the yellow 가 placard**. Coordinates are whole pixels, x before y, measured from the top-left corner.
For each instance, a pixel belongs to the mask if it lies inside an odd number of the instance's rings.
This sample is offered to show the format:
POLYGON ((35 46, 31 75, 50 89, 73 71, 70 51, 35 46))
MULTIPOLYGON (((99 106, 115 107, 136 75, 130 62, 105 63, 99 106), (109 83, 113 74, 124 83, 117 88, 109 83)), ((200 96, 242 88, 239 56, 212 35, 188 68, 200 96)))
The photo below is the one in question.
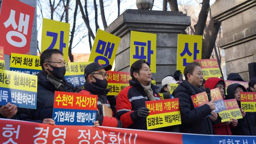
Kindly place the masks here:
MULTIPOLYGON (((69 0, 68 0, 69 1, 69 0)), ((72 54, 72 44, 73 44, 73 39, 74 39, 74 33, 76 29, 76 15, 77 15, 77 10, 78 10, 78 4, 76 2, 76 7, 74 11, 74 21, 73 21, 73 27, 71 31, 71 36, 70 36, 70 41, 69 41, 69 47, 68 47, 68 57, 70 59, 70 62, 74 62, 74 56, 72 54)))

